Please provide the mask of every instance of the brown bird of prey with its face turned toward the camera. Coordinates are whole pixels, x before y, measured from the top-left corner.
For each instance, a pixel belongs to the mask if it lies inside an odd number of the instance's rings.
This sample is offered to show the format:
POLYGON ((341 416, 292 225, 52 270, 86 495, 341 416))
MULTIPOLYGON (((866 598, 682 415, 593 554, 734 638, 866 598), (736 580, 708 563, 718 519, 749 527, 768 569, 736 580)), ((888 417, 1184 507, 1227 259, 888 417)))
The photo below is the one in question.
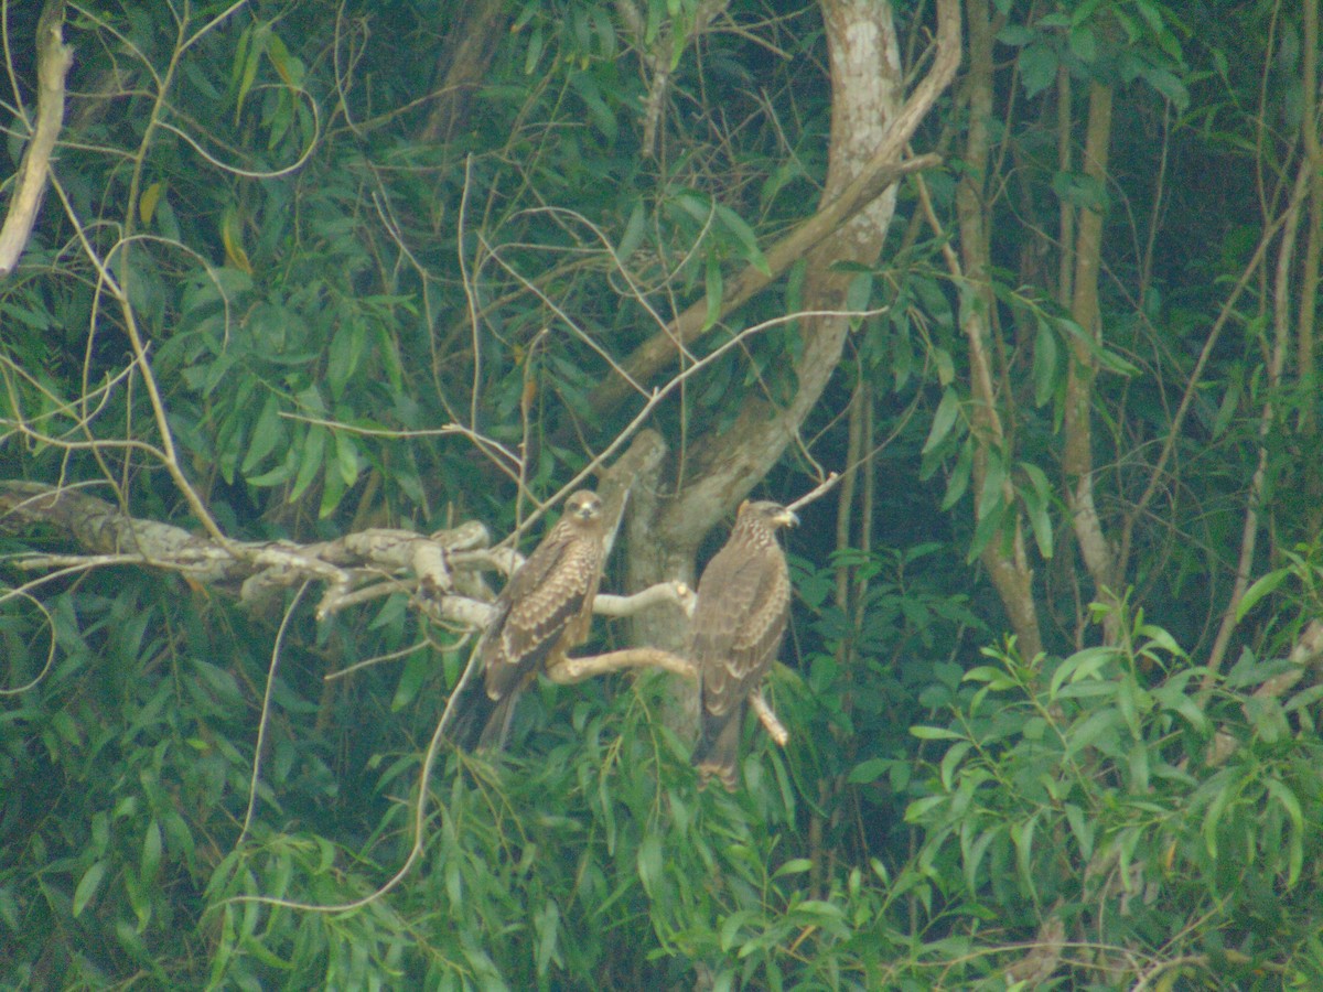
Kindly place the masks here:
POLYGON ((579 491, 492 604, 478 665, 460 682, 446 735, 466 751, 500 747, 515 701, 540 671, 587 640, 602 578, 602 500, 579 491))

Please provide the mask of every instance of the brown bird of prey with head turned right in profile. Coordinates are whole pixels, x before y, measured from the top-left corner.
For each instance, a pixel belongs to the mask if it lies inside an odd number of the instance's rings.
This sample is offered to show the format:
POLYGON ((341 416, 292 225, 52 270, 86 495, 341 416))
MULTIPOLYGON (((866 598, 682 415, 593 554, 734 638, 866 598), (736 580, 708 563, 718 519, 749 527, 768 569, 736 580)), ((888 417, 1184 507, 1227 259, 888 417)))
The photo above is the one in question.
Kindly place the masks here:
POLYGON ((790 612, 790 574, 777 528, 798 522, 775 503, 745 500, 730 540, 699 579, 691 657, 699 669, 701 729, 693 765, 704 784, 714 775, 736 788, 749 694, 775 660, 790 612))

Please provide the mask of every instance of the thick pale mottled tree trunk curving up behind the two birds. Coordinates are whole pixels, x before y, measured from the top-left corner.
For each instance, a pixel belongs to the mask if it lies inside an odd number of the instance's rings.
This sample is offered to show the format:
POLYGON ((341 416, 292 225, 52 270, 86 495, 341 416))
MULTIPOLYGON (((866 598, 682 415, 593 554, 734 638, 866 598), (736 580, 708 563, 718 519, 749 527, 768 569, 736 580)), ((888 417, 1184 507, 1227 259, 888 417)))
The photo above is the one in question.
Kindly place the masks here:
MULTIPOLYGON (((938 50, 929 75, 902 104, 904 71, 890 4, 878 0, 822 0, 832 82, 832 126, 828 175, 822 202, 841 197, 851 181, 876 168, 880 155, 900 161, 923 114, 950 85, 959 65, 959 7, 938 4, 938 50)), ((882 192, 851 214, 831 238, 807 255, 803 306, 810 311, 845 310, 852 274, 839 262, 877 262, 894 210, 894 189, 882 192)), ((806 317, 803 349, 795 364, 798 389, 786 406, 767 399, 746 402, 720 434, 693 439, 676 466, 680 491, 671 499, 638 499, 630 524, 628 583, 646 589, 658 581, 693 583, 695 556, 708 532, 758 484, 794 440, 800 423, 822 397, 840 364, 849 331, 847 317, 806 317)), ((650 487, 639 487, 640 496, 650 487)), ((656 612, 646 623, 647 641, 680 649, 687 636, 680 611, 656 612)), ((635 636, 644 631, 635 630, 635 636)), ((689 693, 692 686, 677 685, 689 693)), ((692 700, 680 713, 695 716, 692 700)), ((676 721, 683 725, 688 721, 676 721)))

